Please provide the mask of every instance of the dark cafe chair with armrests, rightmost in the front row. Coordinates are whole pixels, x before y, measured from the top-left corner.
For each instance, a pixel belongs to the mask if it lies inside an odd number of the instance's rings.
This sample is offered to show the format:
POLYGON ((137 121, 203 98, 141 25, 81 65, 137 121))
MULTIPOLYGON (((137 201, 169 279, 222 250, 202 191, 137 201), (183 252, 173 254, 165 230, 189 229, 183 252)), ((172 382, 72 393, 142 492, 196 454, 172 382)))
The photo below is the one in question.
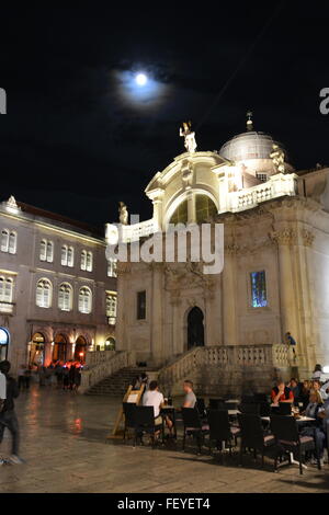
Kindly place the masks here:
MULTIPOLYGON (((294 416, 271 415, 271 431, 274 434, 277 453, 275 454, 274 470, 277 471, 277 457, 280 450, 285 450, 297 456, 299 462, 299 473, 303 474, 303 455, 314 450, 316 453, 315 439, 313 436, 302 436, 298 432, 297 422, 294 416)), ((318 469, 321 470, 319 456, 316 453, 318 469)))

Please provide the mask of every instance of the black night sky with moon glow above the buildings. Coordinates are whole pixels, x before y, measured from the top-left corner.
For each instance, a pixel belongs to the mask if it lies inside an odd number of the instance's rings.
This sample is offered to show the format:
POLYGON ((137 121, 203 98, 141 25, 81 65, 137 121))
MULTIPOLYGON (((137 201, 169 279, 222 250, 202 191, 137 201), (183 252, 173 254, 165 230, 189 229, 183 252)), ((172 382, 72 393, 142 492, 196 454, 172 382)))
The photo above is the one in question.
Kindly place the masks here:
POLYGON ((219 150, 248 110, 297 169, 329 163, 325 2, 157 3, 1 7, 0 201, 99 226, 124 201, 149 218, 144 190, 184 151, 180 124, 219 150), (129 90, 140 70, 146 98, 129 90))

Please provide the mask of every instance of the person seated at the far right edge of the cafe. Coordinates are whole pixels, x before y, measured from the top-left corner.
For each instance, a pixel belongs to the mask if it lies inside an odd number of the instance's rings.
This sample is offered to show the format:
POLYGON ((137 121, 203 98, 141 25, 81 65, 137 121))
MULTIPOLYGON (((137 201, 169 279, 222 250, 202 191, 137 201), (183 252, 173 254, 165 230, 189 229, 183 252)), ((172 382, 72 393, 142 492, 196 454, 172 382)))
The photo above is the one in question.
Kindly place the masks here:
MULTIPOLYGON (((325 432, 322 431, 324 421, 321 413, 324 411, 324 401, 320 393, 317 390, 311 390, 309 393, 309 403, 304 412, 305 416, 309 416, 310 419, 315 419, 310 421, 310 426, 303 427, 300 431, 300 435, 303 436, 313 436, 315 439, 316 445, 316 453, 324 464, 324 450, 325 450, 325 432)), ((317 464, 316 455, 313 456, 311 459, 313 464, 317 464)))

